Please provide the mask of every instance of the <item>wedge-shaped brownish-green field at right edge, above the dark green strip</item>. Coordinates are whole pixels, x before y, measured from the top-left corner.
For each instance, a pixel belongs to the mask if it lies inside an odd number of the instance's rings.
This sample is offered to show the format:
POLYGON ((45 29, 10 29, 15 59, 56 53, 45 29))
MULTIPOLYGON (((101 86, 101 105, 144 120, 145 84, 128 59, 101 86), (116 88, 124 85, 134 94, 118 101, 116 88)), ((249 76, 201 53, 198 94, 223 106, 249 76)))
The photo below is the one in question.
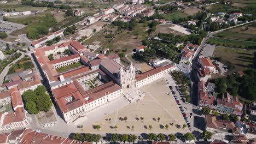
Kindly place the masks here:
POLYGON ((253 25, 228 29, 227 31, 214 34, 214 36, 219 38, 248 40, 256 42, 256 23, 253 25), (246 27, 248 27, 248 29, 246 27))

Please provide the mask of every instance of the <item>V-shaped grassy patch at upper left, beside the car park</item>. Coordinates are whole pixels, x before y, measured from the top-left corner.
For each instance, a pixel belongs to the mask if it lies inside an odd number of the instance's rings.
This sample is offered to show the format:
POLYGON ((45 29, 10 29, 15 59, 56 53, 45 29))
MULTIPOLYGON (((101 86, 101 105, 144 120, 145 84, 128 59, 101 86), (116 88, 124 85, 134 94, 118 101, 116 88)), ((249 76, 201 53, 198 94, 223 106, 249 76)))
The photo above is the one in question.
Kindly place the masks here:
POLYGON ((37 26, 40 22, 43 22, 43 17, 44 16, 53 16, 49 11, 45 11, 44 13, 37 14, 37 15, 31 15, 28 17, 20 17, 20 18, 9 18, 10 22, 15 22, 15 23, 20 23, 23 25, 27 25, 24 28, 19 29, 18 31, 14 31, 11 33, 11 35, 19 35, 19 34, 24 34, 27 33, 27 30, 37 26))

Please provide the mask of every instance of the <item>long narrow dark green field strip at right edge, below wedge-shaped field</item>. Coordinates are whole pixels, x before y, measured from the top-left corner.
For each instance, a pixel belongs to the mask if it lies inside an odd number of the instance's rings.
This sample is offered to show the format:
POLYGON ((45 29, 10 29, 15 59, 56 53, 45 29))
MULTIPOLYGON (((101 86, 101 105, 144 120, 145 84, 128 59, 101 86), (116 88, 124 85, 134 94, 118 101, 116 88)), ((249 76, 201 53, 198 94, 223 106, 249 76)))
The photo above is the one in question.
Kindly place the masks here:
POLYGON ((207 43, 218 45, 218 46, 235 47, 240 49, 256 49, 256 42, 253 42, 253 41, 242 41, 242 40, 211 37, 210 39, 207 40, 207 43))

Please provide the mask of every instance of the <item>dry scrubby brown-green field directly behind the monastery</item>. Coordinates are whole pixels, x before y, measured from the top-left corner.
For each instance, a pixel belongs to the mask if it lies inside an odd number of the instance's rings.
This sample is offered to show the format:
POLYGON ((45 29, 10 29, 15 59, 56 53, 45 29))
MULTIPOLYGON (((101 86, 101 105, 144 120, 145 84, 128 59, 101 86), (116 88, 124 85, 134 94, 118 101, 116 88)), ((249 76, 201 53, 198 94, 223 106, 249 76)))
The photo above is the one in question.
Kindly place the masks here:
POLYGON ((108 47, 110 52, 132 52, 137 46, 141 45, 141 40, 147 37, 148 27, 143 27, 143 23, 137 23, 133 31, 118 29, 117 26, 108 25, 97 32, 86 44, 98 43, 102 47, 108 47))

